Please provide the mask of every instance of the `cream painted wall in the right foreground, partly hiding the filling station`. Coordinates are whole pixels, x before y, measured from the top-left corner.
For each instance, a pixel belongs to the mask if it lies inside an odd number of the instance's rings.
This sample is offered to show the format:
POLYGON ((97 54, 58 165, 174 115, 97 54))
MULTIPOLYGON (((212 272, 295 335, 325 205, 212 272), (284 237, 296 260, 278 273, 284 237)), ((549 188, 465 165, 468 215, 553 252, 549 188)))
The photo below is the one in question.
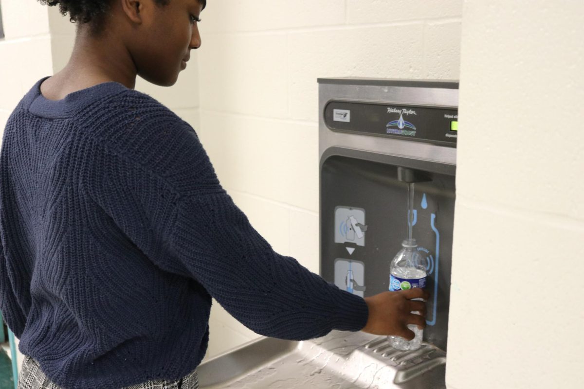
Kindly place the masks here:
POLYGON ((447 384, 582 388, 584 2, 467 0, 447 384))

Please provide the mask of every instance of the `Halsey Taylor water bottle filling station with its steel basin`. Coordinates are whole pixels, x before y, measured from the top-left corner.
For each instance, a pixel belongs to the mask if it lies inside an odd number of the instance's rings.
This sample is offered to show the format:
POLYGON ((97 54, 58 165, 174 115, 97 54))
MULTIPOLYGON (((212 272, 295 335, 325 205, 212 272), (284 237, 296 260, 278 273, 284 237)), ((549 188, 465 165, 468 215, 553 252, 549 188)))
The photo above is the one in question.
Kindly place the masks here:
POLYGON ((420 286, 420 275, 390 274, 396 253, 415 251, 430 292, 423 342, 403 351, 345 331, 260 339, 201 364, 200 387, 446 388, 458 83, 318 82, 319 274, 361 297, 420 286))

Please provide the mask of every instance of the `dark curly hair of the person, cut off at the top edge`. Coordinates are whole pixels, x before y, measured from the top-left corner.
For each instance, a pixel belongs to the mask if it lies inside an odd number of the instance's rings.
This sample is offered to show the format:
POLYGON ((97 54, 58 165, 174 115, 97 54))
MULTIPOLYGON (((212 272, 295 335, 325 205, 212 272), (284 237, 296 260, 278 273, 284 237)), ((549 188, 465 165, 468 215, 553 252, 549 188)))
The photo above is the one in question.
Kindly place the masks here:
MULTIPOLYGON (((43 5, 59 6, 63 16, 69 13, 71 23, 89 23, 92 33, 99 34, 105 24, 105 16, 110 9, 112 0, 38 0, 43 5)), ((158 5, 167 5, 171 0, 155 0, 158 5)), ((203 9, 207 0, 199 0, 203 9)))

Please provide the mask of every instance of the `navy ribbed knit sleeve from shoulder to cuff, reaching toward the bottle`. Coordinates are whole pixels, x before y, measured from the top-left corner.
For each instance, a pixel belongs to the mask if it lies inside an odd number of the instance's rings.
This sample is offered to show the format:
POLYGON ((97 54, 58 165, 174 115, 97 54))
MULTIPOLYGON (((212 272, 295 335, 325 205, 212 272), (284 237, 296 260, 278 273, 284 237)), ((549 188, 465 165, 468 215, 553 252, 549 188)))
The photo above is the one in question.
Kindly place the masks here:
POLYGON ((86 192, 142 253, 193 278, 260 335, 301 340, 361 330, 364 299, 276 253, 221 187, 194 129, 138 98, 124 102, 138 107, 132 131, 112 124, 92 133, 103 140, 89 146, 96 155, 85 177, 86 192))

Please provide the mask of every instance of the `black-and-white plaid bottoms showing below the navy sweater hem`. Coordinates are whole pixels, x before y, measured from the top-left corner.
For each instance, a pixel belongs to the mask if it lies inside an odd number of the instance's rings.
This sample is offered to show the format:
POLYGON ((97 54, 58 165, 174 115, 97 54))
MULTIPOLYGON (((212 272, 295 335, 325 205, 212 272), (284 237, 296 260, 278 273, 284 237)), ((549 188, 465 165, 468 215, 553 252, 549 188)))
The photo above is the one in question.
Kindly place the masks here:
MULTIPOLYGON (((22 361, 22 370, 18 375, 18 389, 62 389, 51 382, 40 370, 39 363, 30 356, 22 361)), ((105 389, 105 388, 104 388, 105 389)), ((121 389, 199 389, 199 376, 193 370, 176 381, 153 380, 121 389)))

